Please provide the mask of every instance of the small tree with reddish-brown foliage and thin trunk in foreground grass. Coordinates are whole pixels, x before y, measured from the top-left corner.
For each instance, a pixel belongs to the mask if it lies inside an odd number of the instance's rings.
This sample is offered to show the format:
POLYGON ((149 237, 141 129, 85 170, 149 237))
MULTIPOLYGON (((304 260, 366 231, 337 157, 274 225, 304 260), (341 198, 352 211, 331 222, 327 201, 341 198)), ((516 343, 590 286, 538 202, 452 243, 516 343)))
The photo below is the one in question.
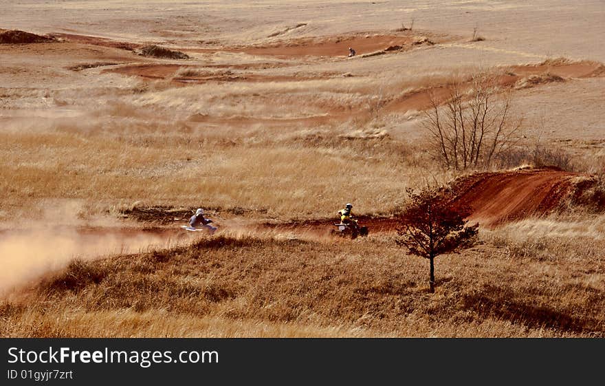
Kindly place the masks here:
POLYGON ((404 223, 397 228, 397 244, 408 248, 408 255, 430 261, 430 292, 434 292, 434 258, 456 253, 476 242, 479 224, 468 226, 470 208, 454 204, 454 195, 445 189, 407 190, 410 205, 404 223))

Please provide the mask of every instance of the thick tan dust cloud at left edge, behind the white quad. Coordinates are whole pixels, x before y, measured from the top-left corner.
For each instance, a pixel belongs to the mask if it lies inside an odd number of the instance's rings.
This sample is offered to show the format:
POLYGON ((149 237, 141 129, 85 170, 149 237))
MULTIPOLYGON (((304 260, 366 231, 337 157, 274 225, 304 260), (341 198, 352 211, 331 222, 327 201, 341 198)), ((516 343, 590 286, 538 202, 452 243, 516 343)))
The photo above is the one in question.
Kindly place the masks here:
POLYGON ((73 200, 34 208, 36 222, 0 226, 0 297, 30 286, 74 259, 90 261, 177 244, 178 230, 148 231, 108 217, 83 219, 73 200))

